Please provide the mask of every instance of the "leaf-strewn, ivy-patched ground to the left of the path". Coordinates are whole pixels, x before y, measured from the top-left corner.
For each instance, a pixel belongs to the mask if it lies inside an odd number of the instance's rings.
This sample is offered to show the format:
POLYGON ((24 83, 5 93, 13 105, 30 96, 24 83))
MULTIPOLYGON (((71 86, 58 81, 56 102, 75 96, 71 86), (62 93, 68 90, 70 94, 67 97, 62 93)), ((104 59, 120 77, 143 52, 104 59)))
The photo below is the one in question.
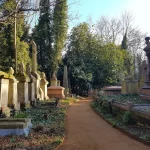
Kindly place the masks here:
POLYGON ((75 98, 60 100, 58 106, 54 102, 39 102, 35 108, 27 109, 15 115, 16 118, 29 117, 33 128, 27 137, 0 137, 0 150, 51 150, 55 149, 64 138, 65 114, 69 104, 76 102, 75 98))

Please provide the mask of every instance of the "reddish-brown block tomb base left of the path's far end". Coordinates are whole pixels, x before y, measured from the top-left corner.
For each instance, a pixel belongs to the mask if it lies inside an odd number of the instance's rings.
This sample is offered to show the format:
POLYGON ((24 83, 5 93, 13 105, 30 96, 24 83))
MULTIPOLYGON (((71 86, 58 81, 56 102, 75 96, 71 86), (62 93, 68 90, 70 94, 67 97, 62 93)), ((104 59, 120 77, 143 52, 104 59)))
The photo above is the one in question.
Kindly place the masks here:
POLYGON ((47 94, 49 98, 65 98, 64 90, 61 86, 50 86, 47 88, 47 94))

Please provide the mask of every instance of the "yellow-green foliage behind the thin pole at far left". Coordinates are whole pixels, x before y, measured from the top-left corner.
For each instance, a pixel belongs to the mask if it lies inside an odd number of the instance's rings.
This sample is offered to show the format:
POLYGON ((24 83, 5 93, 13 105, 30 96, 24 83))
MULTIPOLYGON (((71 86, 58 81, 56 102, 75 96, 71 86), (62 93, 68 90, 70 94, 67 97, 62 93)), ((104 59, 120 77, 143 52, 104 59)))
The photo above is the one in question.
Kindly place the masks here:
MULTIPOLYGON (((3 4, 3 11, 11 12, 15 9, 16 1, 7 0, 3 4)), ((25 18, 23 13, 17 14, 17 59, 18 63, 23 62, 25 65, 30 63, 30 57, 28 53, 28 44, 23 40, 25 18)), ((14 67, 15 65, 15 51, 14 51, 14 17, 0 24, 0 69, 6 71, 8 67, 14 67)))

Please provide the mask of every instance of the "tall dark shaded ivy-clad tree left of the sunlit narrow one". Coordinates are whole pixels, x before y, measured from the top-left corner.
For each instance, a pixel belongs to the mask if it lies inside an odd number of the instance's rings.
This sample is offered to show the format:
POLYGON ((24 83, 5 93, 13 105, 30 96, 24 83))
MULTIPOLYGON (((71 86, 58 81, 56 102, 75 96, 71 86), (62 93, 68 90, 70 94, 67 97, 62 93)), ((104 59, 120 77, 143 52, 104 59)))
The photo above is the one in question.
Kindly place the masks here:
POLYGON ((33 31, 33 38, 37 44, 37 59, 39 70, 46 73, 48 79, 53 72, 53 52, 52 52, 52 17, 49 0, 40 1, 40 17, 38 25, 33 31))

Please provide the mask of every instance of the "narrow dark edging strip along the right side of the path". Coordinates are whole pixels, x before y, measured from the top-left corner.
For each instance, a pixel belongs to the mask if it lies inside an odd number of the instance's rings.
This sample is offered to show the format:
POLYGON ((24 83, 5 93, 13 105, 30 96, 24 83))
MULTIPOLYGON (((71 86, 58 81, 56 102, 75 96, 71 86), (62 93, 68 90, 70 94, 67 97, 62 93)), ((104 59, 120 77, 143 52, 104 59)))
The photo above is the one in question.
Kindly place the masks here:
MULTIPOLYGON (((98 112, 92 107, 91 104, 90 104, 90 106, 91 106, 91 108, 93 109, 93 111, 94 111, 98 116, 100 116, 105 122, 107 122, 108 124, 110 124, 110 125, 112 126, 112 123, 111 123, 111 122, 109 122, 108 120, 106 120, 100 113, 98 113, 98 112)), ((139 137, 137 137, 137 136, 131 134, 131 133, 128 132, 128 131, 123 130, 122 128, 120 128, 120 127, 118 127, 118 126, 112 127, 112 128, 117 129, 118 131, 120 131, 120 132, 123 133, 124 135, 126 135, 126 136, 128 136, 128 137, 130 137, 130 138, 132 138, 132 139, 134 139, 134 140, 136 140, 136 141, 138 141, 138 142, 140 142, 140 143, 143 143, 143 144, 145 144, 145 145, 147 145, 147 146, 150 146, 150 142, 147 142, 147 141, 145 141, 145 140, 143 140, 143 139, 140 139, 139 137)))

